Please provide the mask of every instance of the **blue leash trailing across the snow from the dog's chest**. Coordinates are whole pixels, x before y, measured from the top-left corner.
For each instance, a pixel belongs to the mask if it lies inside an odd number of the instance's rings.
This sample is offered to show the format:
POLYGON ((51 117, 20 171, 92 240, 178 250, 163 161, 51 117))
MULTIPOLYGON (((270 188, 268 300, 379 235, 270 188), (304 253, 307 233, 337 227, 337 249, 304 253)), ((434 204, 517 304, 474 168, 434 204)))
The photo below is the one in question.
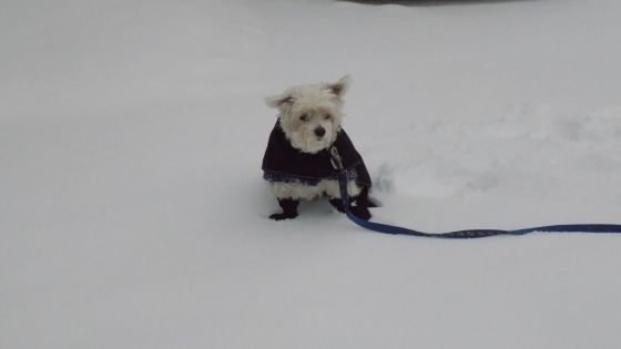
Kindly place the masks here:
POLYGON ((332 163, 335 170, 338 171, 338 186, 340 189, 340 199, 343 201, 343 208, 347 217, 357 224, 358 226, 384 234, 391 235, 410 235, 420 237, 435 237, 435 238, 451 238, 451 239, 462 239, 462 238, 480 238, 498 235, 526 235, 535 232, 541 233, 614 233, 621 234, 621 225, 618 224, 564 224, 564 225, 547 225, 532 228, 523 228, 517 230, 499 230, 499 229, 468 229, 468 230, 457 230, 449 233, 425 233, 413 230, 399 226, 375 223, 362 219, 355 216, 349 211, 349 194, 347 193, 347 176, 343 168, 343 163, 336 147, 330 148, 332 163))

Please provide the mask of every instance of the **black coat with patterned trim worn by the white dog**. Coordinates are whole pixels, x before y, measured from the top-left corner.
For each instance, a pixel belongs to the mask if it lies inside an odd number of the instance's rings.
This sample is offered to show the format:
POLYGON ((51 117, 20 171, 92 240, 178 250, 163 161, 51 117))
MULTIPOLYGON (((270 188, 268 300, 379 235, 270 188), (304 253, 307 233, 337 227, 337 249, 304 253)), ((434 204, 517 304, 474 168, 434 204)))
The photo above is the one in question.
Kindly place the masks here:
MULTIPOLYGON (((343 166, 347 171, 347 178, 355 181, 360 187, 370 187, 370 176, 363 157, 343 129, 338 131, 333 146, 336 146, 340 154, 343 166)), ((262 170, 263 177, 269 182, 317 185, 322 179, 336 181, 338 178, 327 148, 316 154, 303 153, 294 148, 279 122, 269 134, 262 170)))

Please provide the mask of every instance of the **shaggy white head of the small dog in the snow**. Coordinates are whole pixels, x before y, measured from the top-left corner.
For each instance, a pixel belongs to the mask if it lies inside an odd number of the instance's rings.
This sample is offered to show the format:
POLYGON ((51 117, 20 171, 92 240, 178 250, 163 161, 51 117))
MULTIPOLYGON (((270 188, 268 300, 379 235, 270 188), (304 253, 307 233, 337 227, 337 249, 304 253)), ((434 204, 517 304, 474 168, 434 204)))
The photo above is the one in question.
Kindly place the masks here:
POLYGON ((343 121, 343 95, 348 84, 349 76, 345 75, 334 83, 291 88, 265 102, 278 109, 281 126, 293 147, 315 154, 336 140, 343 121))

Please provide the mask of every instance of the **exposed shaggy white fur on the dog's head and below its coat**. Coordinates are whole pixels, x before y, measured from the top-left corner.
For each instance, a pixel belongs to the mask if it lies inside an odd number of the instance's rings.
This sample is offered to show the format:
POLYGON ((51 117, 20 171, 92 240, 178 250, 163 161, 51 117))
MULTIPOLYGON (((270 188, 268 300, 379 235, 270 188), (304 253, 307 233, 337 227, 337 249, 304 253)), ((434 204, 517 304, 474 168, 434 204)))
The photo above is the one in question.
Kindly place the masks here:
MULTIPOLYGON (((281 126, 293 147, 316 154, 329 147, 343 122, 343 95, 349 86, 345 75, 334 83, 316 83, 289 88, 285 93, 267 97, 268 106, 278 109, 281 126), (320 131, 323 130, 323 134, 320 131)), ((313 199, 317 196, 340 197, 338 182, 324 179, 317 185, 303 183, 271 183, 272 193, 278 198, 313 199)), ((360 194, 356 183, 348 182, 352 196, 360 194)))

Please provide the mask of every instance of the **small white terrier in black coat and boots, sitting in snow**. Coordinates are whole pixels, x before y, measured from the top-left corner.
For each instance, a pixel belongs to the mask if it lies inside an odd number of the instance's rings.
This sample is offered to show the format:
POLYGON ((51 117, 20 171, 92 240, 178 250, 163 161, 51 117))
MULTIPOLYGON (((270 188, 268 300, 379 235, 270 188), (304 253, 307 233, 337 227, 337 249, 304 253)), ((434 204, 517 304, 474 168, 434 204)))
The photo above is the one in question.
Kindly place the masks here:
POLYGON ((272 130, 263 157, 263 177, 283 208, 269 216, 275 220, 297 217, 299 199, 327 196, 339 212, 340 199, 337 171, 329 150, 336 147, 347 174, 348 209, 369 219, 370 176, 360 154, 342 129, 343 95, 349 78, 335 83, 294 86, 283 94, 267 97, 268 106, 278 110, 278 121, 272 130))

